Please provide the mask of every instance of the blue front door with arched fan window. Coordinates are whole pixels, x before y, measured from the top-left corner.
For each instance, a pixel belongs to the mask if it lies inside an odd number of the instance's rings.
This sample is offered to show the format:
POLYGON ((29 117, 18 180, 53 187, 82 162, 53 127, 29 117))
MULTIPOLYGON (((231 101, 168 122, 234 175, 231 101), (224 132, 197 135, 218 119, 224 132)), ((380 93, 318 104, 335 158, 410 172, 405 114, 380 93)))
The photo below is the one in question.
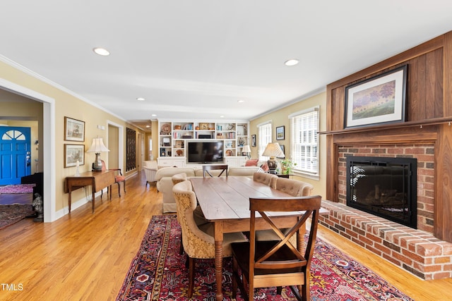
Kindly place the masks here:
POLYGON ((0 126, 0 185, 31 174, 30 128, 0 126))

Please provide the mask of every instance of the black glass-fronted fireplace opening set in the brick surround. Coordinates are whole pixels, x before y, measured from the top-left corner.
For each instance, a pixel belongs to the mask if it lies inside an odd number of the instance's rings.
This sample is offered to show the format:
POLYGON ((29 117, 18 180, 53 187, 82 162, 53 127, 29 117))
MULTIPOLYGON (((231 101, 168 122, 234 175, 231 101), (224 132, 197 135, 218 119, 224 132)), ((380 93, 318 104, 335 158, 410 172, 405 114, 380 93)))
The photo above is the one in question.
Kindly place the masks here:
POLYGON ((347 206, 417 228, 417 159, 347 157, 347 206))

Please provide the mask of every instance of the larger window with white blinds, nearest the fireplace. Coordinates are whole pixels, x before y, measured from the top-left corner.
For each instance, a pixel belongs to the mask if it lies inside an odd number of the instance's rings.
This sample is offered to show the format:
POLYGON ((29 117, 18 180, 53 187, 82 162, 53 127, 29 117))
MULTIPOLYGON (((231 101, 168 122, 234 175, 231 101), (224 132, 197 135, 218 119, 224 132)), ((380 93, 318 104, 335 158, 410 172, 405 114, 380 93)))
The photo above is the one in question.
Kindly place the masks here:
POLYGON ((292 161, 295 170, 317 176, 319 174, 319 107, 293 113, 291 123, 292 161))

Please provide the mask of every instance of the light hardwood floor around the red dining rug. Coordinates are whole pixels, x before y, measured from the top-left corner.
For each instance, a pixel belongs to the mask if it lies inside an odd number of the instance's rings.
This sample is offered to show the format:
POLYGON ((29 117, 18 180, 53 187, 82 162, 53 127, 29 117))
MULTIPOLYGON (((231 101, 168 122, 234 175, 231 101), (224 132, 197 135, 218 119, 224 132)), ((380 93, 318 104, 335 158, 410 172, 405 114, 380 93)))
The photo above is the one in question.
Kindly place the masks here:
MULTIPOLYGON (((53 223, 24 219, 0 230, 0 300, 115 300, 162 195, 138 174, 127 192, 104 194, 53 223)), ((319 236, 414 300, 452 300, 452 279, 422 281, 319 228, 319 236)))

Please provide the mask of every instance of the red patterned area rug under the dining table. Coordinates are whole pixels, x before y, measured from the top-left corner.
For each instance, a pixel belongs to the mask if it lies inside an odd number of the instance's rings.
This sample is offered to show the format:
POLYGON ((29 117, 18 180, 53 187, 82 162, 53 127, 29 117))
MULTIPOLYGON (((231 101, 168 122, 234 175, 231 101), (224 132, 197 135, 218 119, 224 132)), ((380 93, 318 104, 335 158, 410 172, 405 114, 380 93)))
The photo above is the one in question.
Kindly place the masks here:
MULTIPOLYGON (((179 254, 180 226, 175 215, 153 216, 140 250, 131 263, 117 301, 186 300, 189 271, 179 254)), ((232 259, 223 261, 223 294, 232 300, 232 259)), ((256 290, 254 300, 296 300, 290 288, 256 290)), ((215 300, 213 259, 196 262, 192 300, 215 300)), ((240 293, 237 300, 243 300, 240 293)), ((311 265, 311 300, 412 300, 393 285, 322 240, 317 240, 311 265)))

